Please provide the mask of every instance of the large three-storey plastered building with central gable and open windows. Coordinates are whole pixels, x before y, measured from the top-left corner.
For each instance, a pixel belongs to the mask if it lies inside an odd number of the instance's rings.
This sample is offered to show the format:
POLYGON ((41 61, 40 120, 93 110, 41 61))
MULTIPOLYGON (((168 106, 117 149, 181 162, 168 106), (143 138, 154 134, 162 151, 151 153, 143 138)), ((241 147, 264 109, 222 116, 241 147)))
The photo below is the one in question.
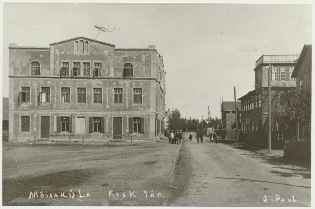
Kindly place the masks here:
POLYGON ((115 48, 85 37, 10 44, 10 138, 154 140, 164 127, 163 67, 155 46, 115 48))

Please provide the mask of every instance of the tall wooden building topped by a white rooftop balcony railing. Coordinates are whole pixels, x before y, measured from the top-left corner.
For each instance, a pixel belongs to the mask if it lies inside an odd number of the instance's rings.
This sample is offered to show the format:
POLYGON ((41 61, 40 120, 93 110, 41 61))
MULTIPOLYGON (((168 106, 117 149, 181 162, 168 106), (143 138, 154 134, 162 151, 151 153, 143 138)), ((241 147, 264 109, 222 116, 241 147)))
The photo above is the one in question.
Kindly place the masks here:
POLYGON ((255 90, 238 99, 241 101, 241 129, 250 144, 267 145, 268 68, 271 64, 272 147, 283 147, 285 135, 290 133, 288 124, 281 121, 286 113, 278 96, 287 88, 295 88, 291 75, 298 58, 299 55, 262 55, 256 61, 255 90))

